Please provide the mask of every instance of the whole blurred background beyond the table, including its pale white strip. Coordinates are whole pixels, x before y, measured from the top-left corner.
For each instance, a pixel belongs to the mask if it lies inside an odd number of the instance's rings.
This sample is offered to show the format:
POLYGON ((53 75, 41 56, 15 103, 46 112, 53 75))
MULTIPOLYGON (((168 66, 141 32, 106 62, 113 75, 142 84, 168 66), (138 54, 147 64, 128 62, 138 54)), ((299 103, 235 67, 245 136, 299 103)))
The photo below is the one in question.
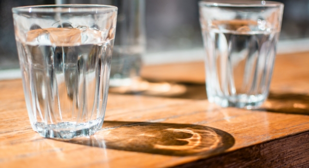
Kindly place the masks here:
MULTIPOLYGON (((138 1, 138 0, 136 0, 138 1)), ((145 0, 144 65, 203 60, 199 0, 145 0)), ((279 53, 309 50, 309 0, 285 4, 279 53)), ((0 78, 19 78, 12 7, 55 3, 105 4, 108 0, 0 0, 0 78)))

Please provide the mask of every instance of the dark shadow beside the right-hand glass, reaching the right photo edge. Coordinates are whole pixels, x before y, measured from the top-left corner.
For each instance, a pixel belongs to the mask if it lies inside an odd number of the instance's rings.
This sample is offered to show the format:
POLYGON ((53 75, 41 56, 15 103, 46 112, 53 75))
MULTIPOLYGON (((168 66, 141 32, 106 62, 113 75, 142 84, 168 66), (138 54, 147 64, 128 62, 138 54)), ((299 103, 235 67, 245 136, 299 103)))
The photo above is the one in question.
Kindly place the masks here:
POLYGON ((270 93, 261 110, 309 115, 309 95, 295 93, 270 93))

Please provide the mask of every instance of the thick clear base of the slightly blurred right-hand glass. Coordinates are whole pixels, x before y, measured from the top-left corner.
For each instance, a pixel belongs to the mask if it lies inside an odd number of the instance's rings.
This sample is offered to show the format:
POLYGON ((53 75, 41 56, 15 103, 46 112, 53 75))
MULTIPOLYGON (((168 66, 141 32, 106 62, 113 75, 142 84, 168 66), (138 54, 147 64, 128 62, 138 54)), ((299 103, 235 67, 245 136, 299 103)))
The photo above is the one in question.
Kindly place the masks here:
POLYGON ((218 104, 221 107, 237 107, 243 109, 257 109, 266 100, 265 95, 235 95, 235 96, 208 96, 209 101, 218 104))

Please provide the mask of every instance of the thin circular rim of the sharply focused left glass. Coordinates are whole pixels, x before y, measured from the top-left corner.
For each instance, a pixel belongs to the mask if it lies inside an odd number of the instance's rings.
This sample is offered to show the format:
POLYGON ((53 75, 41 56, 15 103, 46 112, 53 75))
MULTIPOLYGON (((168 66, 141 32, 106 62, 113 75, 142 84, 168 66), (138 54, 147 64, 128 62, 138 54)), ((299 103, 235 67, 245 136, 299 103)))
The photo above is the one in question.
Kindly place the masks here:
POLYGON ((106 13, 117 11, 118 8, 112 5, 98 4, 61 4, 61 5, 32 5, 12 8, 14 14, 17 13, 72 13, 79 14, 85 12, 106 13), (92 9, 92 10, 91 10, 92 9))

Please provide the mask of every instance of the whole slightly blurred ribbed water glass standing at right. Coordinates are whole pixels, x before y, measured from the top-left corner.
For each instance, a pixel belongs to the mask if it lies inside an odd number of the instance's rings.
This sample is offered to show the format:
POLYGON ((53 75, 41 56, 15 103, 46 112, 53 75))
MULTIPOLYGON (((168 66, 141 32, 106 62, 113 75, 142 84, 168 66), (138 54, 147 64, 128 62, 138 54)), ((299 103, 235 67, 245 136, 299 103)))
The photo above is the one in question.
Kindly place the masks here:
POLYGON ((208 100, 258 108, 267 98, 283 4, 258 0, 200 1, 208 100))

